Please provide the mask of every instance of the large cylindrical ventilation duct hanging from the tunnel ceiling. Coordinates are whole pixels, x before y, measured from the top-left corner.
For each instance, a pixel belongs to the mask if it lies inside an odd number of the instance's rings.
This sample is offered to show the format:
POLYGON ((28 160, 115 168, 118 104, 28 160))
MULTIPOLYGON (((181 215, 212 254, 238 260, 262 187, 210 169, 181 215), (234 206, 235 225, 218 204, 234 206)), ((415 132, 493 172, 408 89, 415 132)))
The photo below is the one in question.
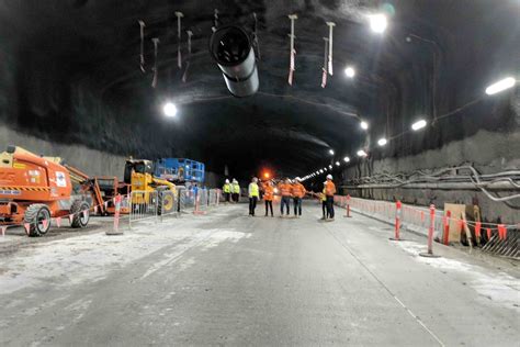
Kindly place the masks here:
POLYGON ((231 94, 241 98, 257 92, 259 81, 255 52, 248 34, 241 27, 218 27, 210 40, 210 52, 231 94))

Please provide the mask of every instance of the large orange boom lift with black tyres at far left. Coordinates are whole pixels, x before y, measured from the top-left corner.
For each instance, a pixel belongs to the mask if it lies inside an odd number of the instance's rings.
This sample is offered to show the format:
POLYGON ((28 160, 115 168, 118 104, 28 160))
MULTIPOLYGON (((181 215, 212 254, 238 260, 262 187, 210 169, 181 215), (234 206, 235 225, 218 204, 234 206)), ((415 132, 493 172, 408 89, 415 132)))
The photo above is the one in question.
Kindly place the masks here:
POLYGON ((16 146, 0 154, 0 225, 23 224, 29 236, 43 236, 53 217, 72 215, 72 227, 87 226, 90 205, 70 201, 70 174, 60 161, 16 146))

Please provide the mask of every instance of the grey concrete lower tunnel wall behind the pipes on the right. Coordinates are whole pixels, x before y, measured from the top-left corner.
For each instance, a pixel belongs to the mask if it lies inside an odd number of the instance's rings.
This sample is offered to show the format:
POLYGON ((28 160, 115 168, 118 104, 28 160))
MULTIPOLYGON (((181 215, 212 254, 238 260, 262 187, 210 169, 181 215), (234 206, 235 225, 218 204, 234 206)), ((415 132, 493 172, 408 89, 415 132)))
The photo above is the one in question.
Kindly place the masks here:
MULTIPOLYGON (((436 171, 445 167, 473 165, 481 174, 495 174, 520 168, 520 128, 505 133, 479 131, 462 141, 451 142, 441 148, 422 152, 418 155, 397 158, 366 159, 344 170, 343 184, 350 178, 366 177, 382 172, 412 174, 416 170, 436 171)), ((418 190, 418 189, 354 189, 342 190, 354 197, 382 200, 402 200, 418 205, 434 203, 442 208, 448 203, 472 204, 477 201, 484 221, 518 223, 520 203, 494 202, 479 191, 468 190, 418 190)), ((500 192, 509 195, 513 192, 500 192)), ((516 192, 518 193, 518 191, 516 192)))

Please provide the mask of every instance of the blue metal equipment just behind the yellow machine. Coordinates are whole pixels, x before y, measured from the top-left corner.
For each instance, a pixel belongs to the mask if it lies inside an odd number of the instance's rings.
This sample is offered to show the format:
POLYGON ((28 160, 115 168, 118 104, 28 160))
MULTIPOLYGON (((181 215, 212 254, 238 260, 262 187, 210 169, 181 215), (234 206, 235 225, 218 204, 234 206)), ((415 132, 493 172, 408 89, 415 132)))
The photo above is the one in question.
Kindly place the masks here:
POLYGON ((161 158, 156 161, 154 175, 170 182, 204 182, 204 164, 185 158, 161 158))

